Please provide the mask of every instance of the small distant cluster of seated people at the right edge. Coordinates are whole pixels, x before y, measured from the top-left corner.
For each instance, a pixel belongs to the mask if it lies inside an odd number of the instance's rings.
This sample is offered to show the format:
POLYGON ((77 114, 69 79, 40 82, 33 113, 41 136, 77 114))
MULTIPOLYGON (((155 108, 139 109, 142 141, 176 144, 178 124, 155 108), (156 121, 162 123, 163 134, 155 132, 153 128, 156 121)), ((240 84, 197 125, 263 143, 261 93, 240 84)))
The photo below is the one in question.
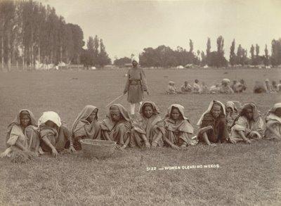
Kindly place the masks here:
POLYGON ((281 80, 279 84, 276 81, 272 81, 270 84, 269 79, 266 79, 264 82, 256 81, 254 85, 254 93, 277 93, 281 91, 281 80))

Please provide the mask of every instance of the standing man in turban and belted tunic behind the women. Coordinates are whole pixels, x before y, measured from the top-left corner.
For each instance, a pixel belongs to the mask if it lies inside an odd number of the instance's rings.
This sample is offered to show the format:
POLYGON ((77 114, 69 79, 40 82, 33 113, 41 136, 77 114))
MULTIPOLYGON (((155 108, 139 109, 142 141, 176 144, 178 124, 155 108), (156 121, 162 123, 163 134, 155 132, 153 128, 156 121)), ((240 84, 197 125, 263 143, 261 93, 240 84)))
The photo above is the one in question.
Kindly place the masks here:
POLYGON ((133 67, 128 71, 128 79, 124 89, 124 94, 128 93, 127 100, 131 103, 131 115, 133 116, 135 115, 136 103, 139 103, 140 106, 143 103, 143 92, 146 91, 148 93, 145 72, 142 68, 138 67, 138 62, 138 57, 132 56, 131 63, 133 67))

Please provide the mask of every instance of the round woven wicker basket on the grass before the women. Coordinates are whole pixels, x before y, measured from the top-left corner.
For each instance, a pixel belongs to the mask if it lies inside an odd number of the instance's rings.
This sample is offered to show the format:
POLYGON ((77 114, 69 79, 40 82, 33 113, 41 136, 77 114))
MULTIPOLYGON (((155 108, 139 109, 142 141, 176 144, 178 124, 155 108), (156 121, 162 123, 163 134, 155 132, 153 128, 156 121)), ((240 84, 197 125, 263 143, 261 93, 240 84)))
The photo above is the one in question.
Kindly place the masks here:
POLYGON ((116 142, 100 139, 81 139, 82 150, 85 157, 103 159, 110 157, 115 151, 116 142))

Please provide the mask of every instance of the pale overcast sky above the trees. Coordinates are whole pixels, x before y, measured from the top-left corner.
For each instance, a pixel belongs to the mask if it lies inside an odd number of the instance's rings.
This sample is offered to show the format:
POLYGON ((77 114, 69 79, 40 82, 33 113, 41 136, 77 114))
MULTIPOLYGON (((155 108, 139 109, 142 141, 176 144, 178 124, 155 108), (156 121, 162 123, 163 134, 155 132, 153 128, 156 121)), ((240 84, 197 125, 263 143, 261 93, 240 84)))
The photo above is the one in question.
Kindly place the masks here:
POLYGON ((111 58, 141 53, 145 47, 159 45, 182 46, 206 53, 207 37, 211 50, 216 50, 216 38, 225 40, 226 58, 231 41, 248 50, 259 44, 260 53, 271 40, 281 37, 281 0, 244 1, 92 1, 40 0, 53 6, 66 22, 77 24, 89 36, 103 39, 111 58))

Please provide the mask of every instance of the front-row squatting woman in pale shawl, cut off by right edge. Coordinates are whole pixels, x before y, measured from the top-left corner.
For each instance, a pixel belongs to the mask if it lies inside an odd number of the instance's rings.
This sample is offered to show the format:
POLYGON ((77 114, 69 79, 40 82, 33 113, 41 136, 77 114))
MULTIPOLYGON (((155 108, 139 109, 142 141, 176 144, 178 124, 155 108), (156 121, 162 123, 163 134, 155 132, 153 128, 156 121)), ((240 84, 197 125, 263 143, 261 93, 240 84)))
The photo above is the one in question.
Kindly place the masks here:
POLYGON ((275 103, 266 114, 266 131, 264 132, 266 139, 281 140, 281 103, 275 103))

